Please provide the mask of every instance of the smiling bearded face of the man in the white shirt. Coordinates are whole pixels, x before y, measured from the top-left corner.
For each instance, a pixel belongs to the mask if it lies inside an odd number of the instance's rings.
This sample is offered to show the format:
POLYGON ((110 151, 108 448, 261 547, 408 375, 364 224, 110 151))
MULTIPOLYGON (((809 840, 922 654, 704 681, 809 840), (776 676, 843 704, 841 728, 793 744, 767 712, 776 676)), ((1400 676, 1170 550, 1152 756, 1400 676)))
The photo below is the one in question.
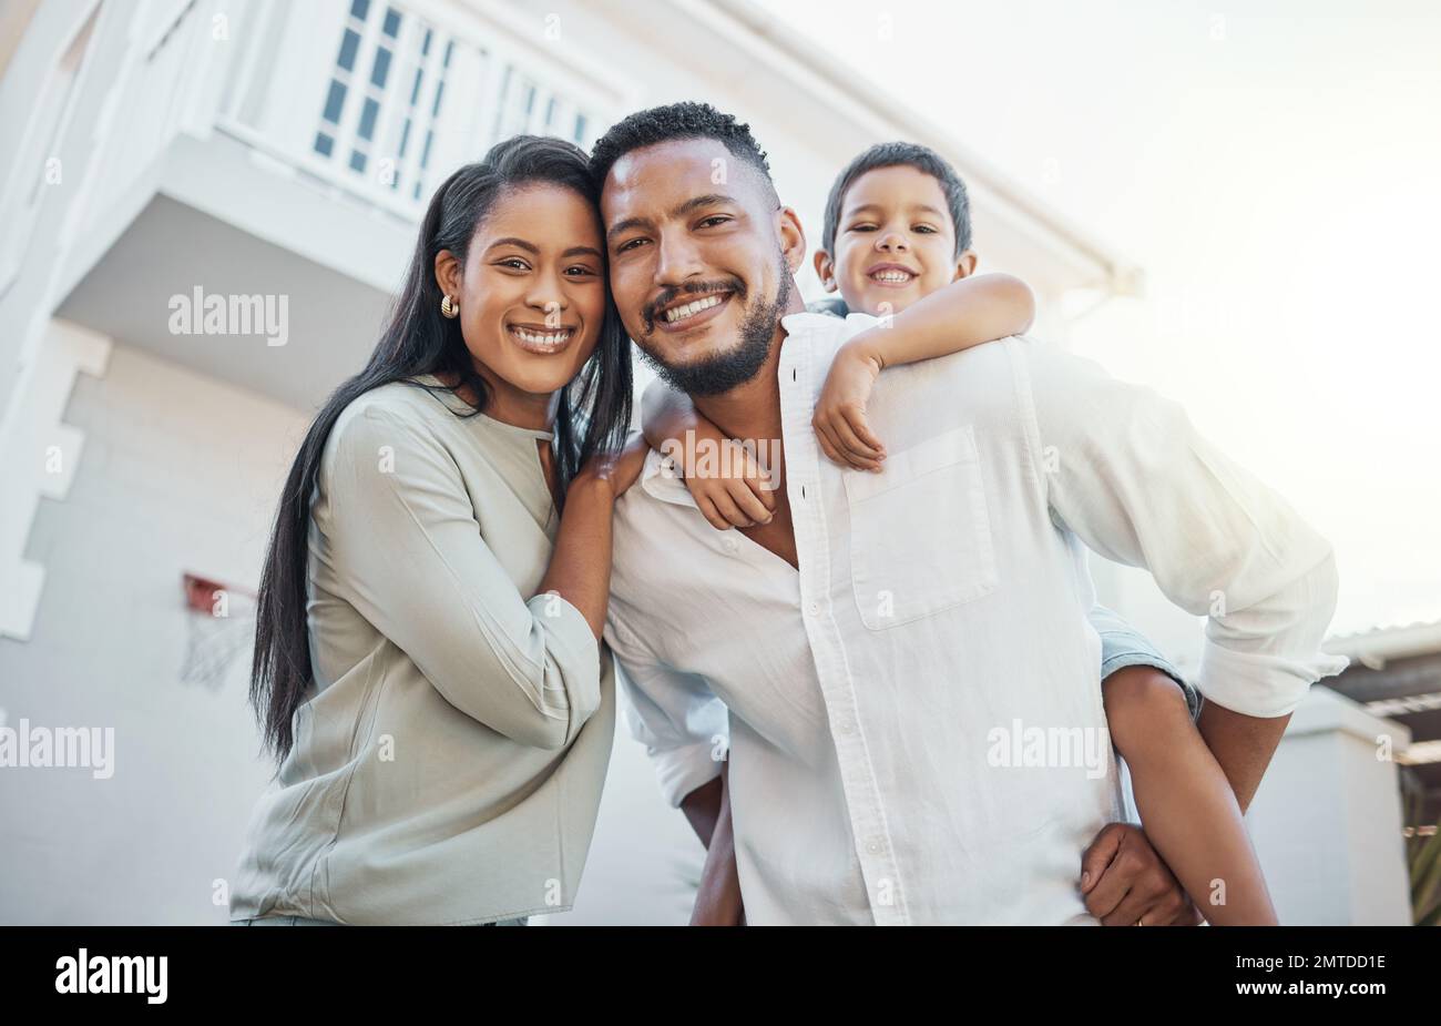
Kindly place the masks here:
POLYGON ((615 161, 601 218, 615 305, 657 370, 692 395, 754 378, 806 251, 769 182, 718 140, 657 143, 615 161))

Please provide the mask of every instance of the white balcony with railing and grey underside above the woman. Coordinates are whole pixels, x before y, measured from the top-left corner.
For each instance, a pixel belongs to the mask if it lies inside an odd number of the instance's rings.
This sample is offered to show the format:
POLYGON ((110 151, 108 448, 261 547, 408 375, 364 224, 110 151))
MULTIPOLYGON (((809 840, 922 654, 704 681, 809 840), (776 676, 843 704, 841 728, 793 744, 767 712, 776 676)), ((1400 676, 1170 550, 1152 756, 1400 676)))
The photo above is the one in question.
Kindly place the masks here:
POLYGON ((72 215, 56 314, 301 409, 375 344, 440 180, 529 131, 588 147, 630 95, 506 9, 163 0, 72 215), (287 298, 284 346, 174 334, 171 297, 287 298))

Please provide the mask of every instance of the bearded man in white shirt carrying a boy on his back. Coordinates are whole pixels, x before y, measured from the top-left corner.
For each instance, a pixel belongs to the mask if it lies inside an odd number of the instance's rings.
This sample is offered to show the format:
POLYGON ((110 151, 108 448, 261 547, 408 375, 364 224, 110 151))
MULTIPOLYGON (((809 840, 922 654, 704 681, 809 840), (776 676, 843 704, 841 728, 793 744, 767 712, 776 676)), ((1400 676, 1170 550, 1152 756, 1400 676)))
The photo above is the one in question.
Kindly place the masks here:
POLYGON ((1108 746, 1099 771, 1036 768, 997 765, 989 738, 1105 736, 1084 542, 1213 614, 1200 726, 1244 808, 1334 672, 1326 542, 1176 406, 1022 339, 882 375, 886 474, 843 471, 811 411, 855 326, 804 310, 804 232, 748 128, 643 111, 592 164, 628 333, 723 432, 778 452, 775 516, 725 533, 650 457, 617 506, 607 628, 631 729, 703 842, 729 748, 746 919, 1195 922, 1144 836, 1107 826, 1108 746), (697 300, 719 301, 666 316, 697 300))

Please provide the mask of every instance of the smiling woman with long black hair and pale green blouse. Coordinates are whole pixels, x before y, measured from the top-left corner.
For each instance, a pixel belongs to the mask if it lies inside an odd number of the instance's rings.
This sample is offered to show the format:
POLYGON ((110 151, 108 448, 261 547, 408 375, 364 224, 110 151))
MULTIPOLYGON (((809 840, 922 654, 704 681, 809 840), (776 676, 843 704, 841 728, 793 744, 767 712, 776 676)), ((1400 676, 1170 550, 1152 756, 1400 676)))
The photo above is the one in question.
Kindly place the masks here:
POLYGON ((251 702, 280 761, 252 925, 516 924, 575 901, 614 729, 611 510, 640 471, 584 153, 431 199, 391 323, 281 496, 251 702))

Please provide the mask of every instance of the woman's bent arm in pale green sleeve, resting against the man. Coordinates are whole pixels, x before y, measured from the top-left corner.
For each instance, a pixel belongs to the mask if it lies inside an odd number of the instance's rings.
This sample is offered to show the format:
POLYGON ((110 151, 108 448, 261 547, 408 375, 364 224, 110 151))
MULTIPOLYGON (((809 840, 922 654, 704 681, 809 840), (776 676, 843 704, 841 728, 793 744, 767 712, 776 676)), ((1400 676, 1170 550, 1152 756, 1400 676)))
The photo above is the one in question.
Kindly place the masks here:
POLYGON ((571 594, 527 599, 490 548, 504 539, 481 535, 460 470, 427 425, 372 406, 333 442, 326 540, 343 597, 467 716, 525 745, 569 744, 601 700, 599 641, 572 597, 604 615, 605 585, 584 579, 599 576, 585 561, 608 566, 608 496, 620 483, 595 486, 569 514, 552 581, 571 594), (584 556, 582 537, 607 548, 584 556))

